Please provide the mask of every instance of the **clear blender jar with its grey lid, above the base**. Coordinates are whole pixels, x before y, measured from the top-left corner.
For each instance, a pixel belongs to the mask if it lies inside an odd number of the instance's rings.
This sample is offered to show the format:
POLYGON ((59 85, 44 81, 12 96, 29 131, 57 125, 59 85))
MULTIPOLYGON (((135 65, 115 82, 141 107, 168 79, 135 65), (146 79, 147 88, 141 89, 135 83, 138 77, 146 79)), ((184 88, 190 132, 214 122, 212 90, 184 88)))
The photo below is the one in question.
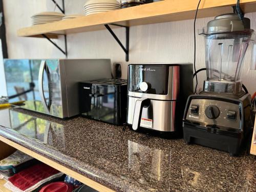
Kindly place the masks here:
MULTIPOLYGON (((239 19, 237 14, 215 17, 200 33, 205 36, 205 60, 207 80, 204 92, 241 94, 241 67, 243 59, 254 38, 250 19, 239 19)), ((252 65, 255 68, 255 44, 253 44, 252 65)))

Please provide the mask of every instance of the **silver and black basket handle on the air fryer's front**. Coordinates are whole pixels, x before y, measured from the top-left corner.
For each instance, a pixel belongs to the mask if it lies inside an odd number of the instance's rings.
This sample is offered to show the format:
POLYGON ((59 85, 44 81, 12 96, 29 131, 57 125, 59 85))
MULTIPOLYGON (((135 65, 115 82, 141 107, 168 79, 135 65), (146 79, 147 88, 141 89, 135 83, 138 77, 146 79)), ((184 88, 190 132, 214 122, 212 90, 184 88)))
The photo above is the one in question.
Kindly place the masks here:
POLYGON ((138 127, 140 126, 140 120, 141 120, 141 114, 142 109, 145 103, 150 101, 150 99, 147 98, 141 98, 138 99, 135 103, 135 109, 134 109, 134 115, 133 115, 133 130, 136 131, 138 127))

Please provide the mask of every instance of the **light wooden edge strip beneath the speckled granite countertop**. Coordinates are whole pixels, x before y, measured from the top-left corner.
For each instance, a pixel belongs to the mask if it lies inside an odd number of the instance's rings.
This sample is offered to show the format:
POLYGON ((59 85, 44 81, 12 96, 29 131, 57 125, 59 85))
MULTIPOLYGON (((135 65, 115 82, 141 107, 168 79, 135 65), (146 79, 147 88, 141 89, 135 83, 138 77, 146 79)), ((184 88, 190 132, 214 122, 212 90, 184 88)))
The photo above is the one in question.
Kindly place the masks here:
POLYGON ((35 159, 37 159, 51 167, 54 167, 55 169, 59 170, 60 172, 66 174, 66 175, 69 175, 69 176, 73 177, 74 179, 77 179, 78 181, 94 188, 95 190, 102 191, 102 192, 114 192, 114 190, 112 190, 108 187, 105 187, 104 185, 101 185, 87 177, 84 177, 81 174, 78 174, 63 165, 60 165, 53 160, 50 160, 42 155, 39 155, 31 150, 28 150, 26 147, 19 145, 13 141, 10 141, 9 139, 6 139, 3 136, 0 136, 0 141, 3 141, 4 143, 16 148, 19 151, 22 151, 23 153, 30 155, 31 157, 34 157, 35 159))

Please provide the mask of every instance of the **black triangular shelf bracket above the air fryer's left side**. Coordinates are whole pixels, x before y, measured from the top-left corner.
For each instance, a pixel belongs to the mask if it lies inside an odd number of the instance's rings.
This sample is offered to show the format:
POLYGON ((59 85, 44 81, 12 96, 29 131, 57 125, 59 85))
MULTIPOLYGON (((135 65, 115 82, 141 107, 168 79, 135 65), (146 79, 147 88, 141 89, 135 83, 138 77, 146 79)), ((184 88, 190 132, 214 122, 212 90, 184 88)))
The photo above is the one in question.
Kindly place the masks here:
POLYGON ((109 30, 109 32, 111 33, 111 35, 116 39, 116 41, 118 42, 118 44, 121 46, 121 48, 123 49, 124 53, 125 53, 125 60, 129 61, 129 40, 130 40, 130 27, 127 26, 122 26, 122 25, 118 25, 118 24, 106 24, 104 25, 106 29, 109 30), (114 31, 110 28, 109 25, 114 25, 114 26, 118 26, 118 27, 124 27, 125 28, 125 33, 126 33, 126 46, 124 47, 122 42, 119 40, 119 38, 116 36, 116 34, 114 33, 114 31))

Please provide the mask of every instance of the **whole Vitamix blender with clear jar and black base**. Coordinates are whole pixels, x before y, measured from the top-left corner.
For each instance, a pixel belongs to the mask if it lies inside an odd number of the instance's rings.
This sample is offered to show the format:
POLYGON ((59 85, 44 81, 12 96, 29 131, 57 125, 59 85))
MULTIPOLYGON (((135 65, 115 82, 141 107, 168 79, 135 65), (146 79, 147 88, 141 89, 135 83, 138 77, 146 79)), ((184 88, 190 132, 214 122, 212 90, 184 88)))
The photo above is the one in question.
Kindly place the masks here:
MULTIPOLYGON (((242 91, 240 76, 254 31, 249 18, 230 13, 215 17, 200 35, 205 39, 207 79, 203 91, 187 100, 184 140, 236 156, 252 129, 251 96, 242 91)), ((255 69, 255 44, 252 51, 255 69)))

